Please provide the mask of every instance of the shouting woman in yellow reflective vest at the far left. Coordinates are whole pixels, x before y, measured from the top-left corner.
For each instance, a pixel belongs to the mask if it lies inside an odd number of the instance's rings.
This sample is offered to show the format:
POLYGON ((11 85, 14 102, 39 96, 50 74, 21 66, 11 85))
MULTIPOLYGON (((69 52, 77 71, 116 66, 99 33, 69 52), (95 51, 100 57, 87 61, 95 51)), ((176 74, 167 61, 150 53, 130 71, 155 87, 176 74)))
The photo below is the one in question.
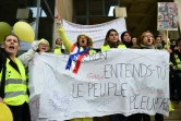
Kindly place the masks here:
POLYGON ((15 57, 20 40, 8 35, 0 51, 0 102, 7 104, 13 114, 13 121, 31 121, 25 69, 15 57))

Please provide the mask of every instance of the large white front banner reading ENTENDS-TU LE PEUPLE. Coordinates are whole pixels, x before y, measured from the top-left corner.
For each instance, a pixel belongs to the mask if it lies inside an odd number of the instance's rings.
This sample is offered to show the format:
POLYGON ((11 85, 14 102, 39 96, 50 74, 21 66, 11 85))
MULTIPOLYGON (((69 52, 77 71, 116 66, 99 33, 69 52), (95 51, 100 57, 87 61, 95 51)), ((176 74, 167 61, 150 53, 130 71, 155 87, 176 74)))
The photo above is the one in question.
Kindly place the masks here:
POLYGON ((68 120, 137 112, 168 116, 167 51, 98 52, 83 59, 77 74, 65 70, 68 58, 43 53, 31 62, 29 106, 34 119, 68 120))

